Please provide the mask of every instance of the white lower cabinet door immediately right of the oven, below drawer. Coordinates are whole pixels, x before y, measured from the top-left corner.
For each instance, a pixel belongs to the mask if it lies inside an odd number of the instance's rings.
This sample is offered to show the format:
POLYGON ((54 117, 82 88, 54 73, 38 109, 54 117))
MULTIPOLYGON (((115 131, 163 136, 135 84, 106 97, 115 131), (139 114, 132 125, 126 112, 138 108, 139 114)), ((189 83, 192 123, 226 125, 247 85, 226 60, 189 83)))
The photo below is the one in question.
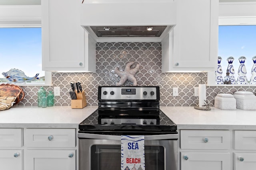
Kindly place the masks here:
POLYGON ((181 152, 181 170, 231 170, 230 153, 181 152))

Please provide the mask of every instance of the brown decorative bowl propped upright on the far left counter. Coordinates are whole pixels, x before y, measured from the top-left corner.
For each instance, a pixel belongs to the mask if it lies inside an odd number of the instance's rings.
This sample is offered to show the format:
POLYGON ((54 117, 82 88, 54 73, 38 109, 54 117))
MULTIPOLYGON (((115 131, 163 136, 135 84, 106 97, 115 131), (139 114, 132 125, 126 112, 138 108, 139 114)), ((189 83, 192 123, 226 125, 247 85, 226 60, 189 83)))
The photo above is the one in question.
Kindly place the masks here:
POLYGON ((15 96, 15 104, 18 104, 24 98, 24 91, 20 86, 14 84, 0 84, 0 97, 15 96))

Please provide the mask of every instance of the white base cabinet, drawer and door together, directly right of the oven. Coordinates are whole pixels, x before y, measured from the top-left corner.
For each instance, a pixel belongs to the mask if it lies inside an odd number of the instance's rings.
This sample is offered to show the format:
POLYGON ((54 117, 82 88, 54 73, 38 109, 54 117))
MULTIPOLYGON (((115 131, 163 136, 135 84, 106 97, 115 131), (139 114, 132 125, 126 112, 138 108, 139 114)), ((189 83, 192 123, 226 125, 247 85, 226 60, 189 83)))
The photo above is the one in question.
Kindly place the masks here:
POLYGON ((181 170, 231 170, 230 131, 180 130, 181 170))

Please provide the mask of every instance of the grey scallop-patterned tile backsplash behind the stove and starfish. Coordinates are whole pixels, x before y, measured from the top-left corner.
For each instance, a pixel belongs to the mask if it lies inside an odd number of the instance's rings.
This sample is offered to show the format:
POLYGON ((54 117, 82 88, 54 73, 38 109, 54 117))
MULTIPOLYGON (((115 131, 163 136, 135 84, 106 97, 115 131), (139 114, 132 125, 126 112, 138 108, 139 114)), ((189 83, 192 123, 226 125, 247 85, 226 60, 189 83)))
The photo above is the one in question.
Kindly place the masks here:
MULTIPOLYGON (((86 92, 88 106, 98 106, 98 86, 114 86, 120 77, 114 68, 124 70, 126 64, 134 61, 140 65, 135 74, 137 86, 160 86, 160 106, 197 106, 198 97, 194 96, 194 87, 206 83, 207 73, 162 73, 161 43, 97 43, 96 73, 60 73, 53 72, 53 86, 44 86, 46 91, 53 91, 54 86, 60 87, 60 96, 54 97, 55 106, 70 106, 70 82, 80 81, 86 92), (172 88, 178 87, 178 96, 172 96, 172 88)), ((124 86, 132 86, 126 81, 124 86)), ((22 86, 25 98, 18 105, 37 106, 39 86, 22 86)), ((214 97, 219 92, 233 94, 236 91, 256 92, 256 87, 210 86, 206 87, 207 100, 214 104, 214 97)))

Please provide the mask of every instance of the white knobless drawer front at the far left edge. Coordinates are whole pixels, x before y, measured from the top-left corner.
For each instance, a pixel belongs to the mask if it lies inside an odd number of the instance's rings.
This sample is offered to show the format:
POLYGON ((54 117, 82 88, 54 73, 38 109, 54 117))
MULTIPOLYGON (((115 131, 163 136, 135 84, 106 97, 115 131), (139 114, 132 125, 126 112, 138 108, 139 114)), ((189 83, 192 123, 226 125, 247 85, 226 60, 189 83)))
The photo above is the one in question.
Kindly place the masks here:
POLYGON ((22 129, 0 129, 0 147, 22 147, 22 129))

